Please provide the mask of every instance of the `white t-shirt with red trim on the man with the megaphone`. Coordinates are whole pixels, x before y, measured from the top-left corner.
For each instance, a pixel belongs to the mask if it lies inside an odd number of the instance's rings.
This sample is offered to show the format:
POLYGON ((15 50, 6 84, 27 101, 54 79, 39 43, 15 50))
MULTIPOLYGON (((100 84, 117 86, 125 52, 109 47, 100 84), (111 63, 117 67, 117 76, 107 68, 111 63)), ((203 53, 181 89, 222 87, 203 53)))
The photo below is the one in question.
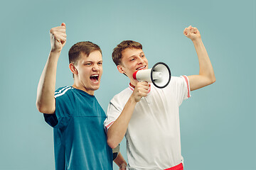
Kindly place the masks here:
MULTIPOLYGON (((105 128, 122 113, 132 95, 129 86, 110 101, 105 128)), ((164 89, 151 84, 149 94, 139 101, 127 132, 128 169, 167 169, 183 162, 178 107, 189 98, 188 77, 171 77, 164 89)))

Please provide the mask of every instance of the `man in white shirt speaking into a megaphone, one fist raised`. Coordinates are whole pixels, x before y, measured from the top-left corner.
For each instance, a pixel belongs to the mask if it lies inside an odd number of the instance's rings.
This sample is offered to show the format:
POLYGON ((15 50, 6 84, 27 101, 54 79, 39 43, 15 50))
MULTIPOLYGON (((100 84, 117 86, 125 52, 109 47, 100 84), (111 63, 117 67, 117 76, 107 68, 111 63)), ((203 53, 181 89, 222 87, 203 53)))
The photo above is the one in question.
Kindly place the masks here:
POLYGON ((137 70, 148 69, 139 42, 123 41, 112 52, 118 71, 130 83, 110 101, 105 120, 107 143, 114 148, 126 137, 128 169, 183 169, 178 107, 191 96, 191 91, 215 82, 198 29, 189 26, 183 34, 196 48, 199 74, 171 77, 164 89, 133 78, 137 70))

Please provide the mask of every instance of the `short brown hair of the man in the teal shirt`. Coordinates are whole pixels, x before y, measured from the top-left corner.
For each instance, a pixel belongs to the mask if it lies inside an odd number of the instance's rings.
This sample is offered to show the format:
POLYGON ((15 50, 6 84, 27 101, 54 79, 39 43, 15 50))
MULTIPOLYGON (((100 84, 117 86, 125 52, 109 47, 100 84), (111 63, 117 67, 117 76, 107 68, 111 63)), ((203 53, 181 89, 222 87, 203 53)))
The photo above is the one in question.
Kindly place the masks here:
POLYGON ((78 64, 81 53, 89 56, 91 52, 94 52, 96 50, 100 51, 100 53, 102 54, 102 50, 100 50, 100 47, 95 43, 92 43, 90 41, 78 42, 70 47, 70 50, 68 52, 69 62, 76 65, 78 64))

